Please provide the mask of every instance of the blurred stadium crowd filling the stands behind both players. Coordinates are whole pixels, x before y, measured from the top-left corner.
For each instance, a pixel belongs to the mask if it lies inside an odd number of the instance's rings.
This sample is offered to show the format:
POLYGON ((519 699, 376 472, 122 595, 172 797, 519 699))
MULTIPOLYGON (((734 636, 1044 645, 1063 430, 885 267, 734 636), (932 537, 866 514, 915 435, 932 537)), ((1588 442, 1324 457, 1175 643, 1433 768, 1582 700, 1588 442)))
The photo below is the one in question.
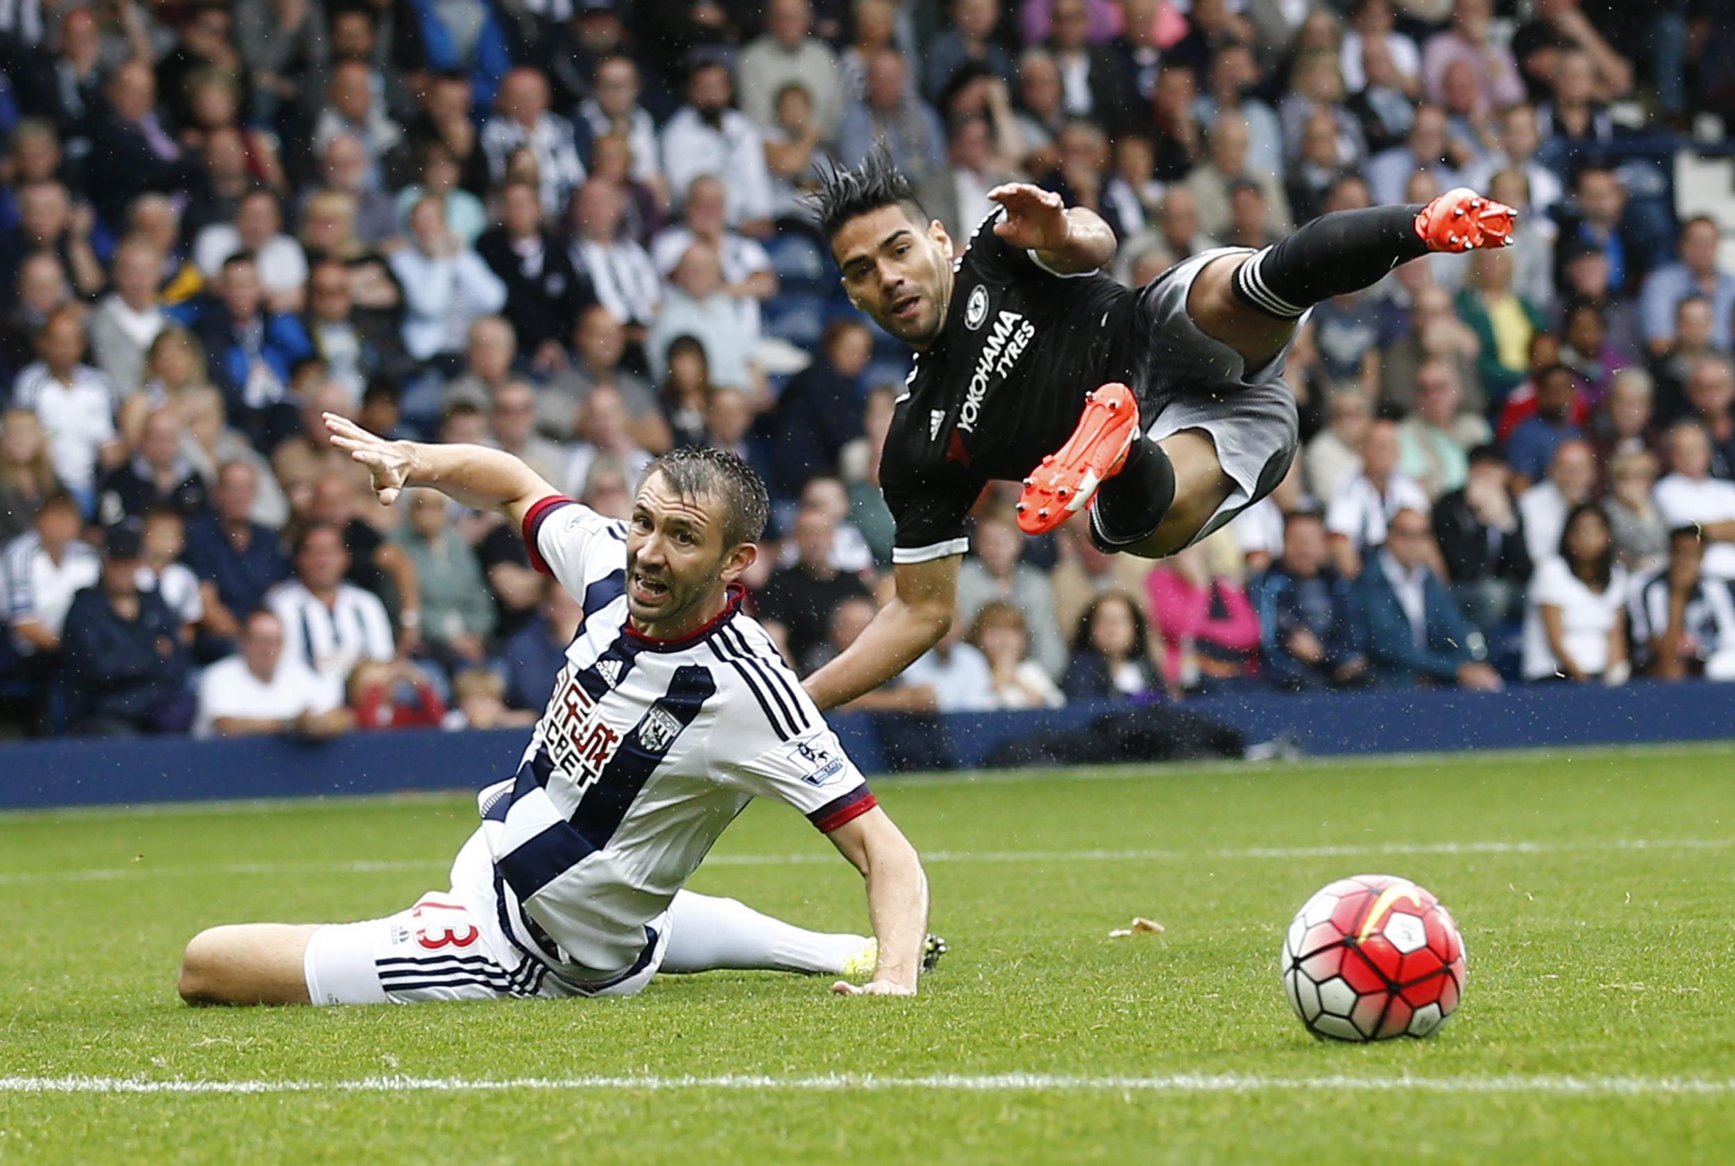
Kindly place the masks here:
POLYGON ((1523 215, 1315 309, 1289 479, 1182 555, 984 495, 953 635, 861 706, 1735 678, 1735 213, 1626 149, 1735 113, 1714 0, 9 0, 0 61, 12 730, 534 718, 583 612, 496 515, 378 507, 323 411, 616 517, 734 449, 751 604, 829 659, 907 354, 800 194, 878 139, 959 245, 1025 179, 1128 283, 1461 184, 1523 215))

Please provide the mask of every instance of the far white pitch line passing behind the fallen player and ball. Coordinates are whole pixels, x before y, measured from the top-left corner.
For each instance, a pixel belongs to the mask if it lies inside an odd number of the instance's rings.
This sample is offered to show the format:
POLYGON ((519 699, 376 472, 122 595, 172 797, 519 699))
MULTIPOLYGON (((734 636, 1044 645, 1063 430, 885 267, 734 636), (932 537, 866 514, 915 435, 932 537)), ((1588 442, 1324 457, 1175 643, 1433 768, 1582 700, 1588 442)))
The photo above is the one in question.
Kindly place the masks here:
MULTIPOLYGON (((1256 862, 1267 859, 1379 859, 1476 854, 1582 854, 1622 850, 1728 850, 1735 838, 1607 838, 1600 842, 1419 842, 1355 847, 1244 847, 1220 850, 928 850, 923 862, 1256 862)), ((829 866, 836 854, 715 854, 704 866, 829 866)), ((0 887, 21 883, 109 883, 128 878, 210 878, 245 874, 378 874, 446 869, 446 859, 382 862, 232 862, 222 866, 102 866, 75 871, 0 873, 0 887)))

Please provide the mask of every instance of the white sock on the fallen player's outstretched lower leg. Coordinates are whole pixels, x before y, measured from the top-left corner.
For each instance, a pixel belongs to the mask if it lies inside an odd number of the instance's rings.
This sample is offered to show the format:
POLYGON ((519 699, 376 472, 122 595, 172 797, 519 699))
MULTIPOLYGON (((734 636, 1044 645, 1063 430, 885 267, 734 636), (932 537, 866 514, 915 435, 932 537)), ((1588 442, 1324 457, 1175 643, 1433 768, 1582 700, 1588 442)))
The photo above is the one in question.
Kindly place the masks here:
POLYGON ((675 894, 668 907, 668 953, 663 972, 814 972, 836 975, 843 961, 868 942, 864 935, 809 932, 736 899, 713 899, 691 890, 675 894))

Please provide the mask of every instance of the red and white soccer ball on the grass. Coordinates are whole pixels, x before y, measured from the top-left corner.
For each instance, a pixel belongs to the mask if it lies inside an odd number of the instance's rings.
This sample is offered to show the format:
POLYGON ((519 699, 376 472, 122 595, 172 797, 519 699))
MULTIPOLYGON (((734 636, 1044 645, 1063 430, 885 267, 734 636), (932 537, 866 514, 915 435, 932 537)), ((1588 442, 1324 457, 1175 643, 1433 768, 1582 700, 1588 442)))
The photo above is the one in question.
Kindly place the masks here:
POLYGON ((1317 1038, 1430 1036, 1464 994, 1464 940, 1452 914, 1416 883, 1339 878, 1289 925, 1284 992, 1317 1038))

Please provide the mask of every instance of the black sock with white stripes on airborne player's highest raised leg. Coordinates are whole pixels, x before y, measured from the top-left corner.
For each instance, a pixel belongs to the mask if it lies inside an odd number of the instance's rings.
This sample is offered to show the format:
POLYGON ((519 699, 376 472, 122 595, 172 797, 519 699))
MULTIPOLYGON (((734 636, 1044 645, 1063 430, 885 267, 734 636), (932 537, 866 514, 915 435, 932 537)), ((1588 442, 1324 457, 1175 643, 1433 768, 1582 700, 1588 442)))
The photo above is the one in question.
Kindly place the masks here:
POLYGON ((1338 210, 1306 224, 1235 269, 1235 297, 1267 316, 1300 319, 1313 304, 1360 292, 1428 253, 1416 206, 1338 210))

